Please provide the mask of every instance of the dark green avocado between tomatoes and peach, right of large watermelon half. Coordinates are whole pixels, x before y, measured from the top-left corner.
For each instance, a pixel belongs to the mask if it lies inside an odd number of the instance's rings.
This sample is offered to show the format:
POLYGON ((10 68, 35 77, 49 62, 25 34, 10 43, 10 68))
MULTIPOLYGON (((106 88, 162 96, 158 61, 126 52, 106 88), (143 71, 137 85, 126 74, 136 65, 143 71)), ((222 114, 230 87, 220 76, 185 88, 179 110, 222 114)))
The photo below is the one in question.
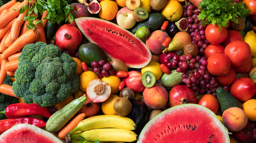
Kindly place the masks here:
POLYGON ((224 88, 218 87, 215 92, 222 113, 230 107, 238 107, 242 109, 241 103, 233 95, 227 92, 224 88))

